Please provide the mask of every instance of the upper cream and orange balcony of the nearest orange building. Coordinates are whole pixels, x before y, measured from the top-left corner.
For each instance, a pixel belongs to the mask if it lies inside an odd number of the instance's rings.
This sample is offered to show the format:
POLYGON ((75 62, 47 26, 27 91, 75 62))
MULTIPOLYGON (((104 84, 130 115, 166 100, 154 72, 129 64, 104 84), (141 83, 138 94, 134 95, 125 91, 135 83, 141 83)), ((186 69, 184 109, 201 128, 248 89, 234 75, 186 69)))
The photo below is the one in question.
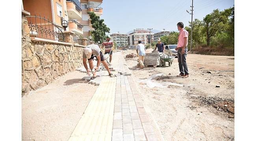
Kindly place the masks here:
POLYGON ((66 4, 69 19, 82 19, 82 9, 78 0, 67 0, 66 4))

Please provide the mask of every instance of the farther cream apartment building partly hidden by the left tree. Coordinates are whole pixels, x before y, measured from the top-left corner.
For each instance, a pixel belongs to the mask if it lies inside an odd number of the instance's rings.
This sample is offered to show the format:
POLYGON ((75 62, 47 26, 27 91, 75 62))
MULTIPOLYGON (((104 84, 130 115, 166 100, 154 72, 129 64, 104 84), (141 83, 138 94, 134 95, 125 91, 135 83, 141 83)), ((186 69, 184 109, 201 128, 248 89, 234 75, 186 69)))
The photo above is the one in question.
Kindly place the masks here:
POLYGON ((103 9, 100 7, 103 0, 81 0, 82 18, 78 22, 83 25, 83 36, 88 37, 89 31, 94 30, 91 24, 91 19, 87 12, 93 11, 96 15, 102 15, 103 9))

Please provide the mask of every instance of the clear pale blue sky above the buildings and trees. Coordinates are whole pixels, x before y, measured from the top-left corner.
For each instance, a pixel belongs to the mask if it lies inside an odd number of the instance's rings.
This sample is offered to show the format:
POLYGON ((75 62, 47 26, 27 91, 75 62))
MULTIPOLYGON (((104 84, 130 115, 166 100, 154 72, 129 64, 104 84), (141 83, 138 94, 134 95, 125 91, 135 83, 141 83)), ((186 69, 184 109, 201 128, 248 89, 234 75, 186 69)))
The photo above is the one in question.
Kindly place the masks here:
MULTIPOLYGON (((176 24, 184 26, 191 21, 192 0, 103 0, 100 18, 110 28, 110 34, 125 34, 136 28, 153 28, 161 31, 177 31, 176 24)), ((194 0, 193 19, 202 20, 214 9, 224 10, 233 7, 234 0, 194 0)))

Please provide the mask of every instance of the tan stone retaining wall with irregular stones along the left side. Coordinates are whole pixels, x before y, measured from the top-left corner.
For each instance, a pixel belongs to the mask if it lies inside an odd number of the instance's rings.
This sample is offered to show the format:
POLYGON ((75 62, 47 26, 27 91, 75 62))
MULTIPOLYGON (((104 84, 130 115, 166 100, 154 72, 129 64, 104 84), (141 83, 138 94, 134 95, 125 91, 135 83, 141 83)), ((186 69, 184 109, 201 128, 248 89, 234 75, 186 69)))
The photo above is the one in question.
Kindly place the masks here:
POLYGON ((22 36, 22 96, 82 66, 83 47, 22 36))

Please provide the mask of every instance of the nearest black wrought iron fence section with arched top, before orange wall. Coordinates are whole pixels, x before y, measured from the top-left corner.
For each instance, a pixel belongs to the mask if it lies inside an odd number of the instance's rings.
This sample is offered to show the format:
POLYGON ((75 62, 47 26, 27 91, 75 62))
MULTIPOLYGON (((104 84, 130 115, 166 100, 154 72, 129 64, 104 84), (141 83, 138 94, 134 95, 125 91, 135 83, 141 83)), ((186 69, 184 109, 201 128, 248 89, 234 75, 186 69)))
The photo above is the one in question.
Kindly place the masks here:
POLYGON ((26 16, 26 18, 30 35, 64 42, 63 29, 61 30, 53 22, 50 22, 49 18, 41 17, 41 14, 39 16, 26 16))

